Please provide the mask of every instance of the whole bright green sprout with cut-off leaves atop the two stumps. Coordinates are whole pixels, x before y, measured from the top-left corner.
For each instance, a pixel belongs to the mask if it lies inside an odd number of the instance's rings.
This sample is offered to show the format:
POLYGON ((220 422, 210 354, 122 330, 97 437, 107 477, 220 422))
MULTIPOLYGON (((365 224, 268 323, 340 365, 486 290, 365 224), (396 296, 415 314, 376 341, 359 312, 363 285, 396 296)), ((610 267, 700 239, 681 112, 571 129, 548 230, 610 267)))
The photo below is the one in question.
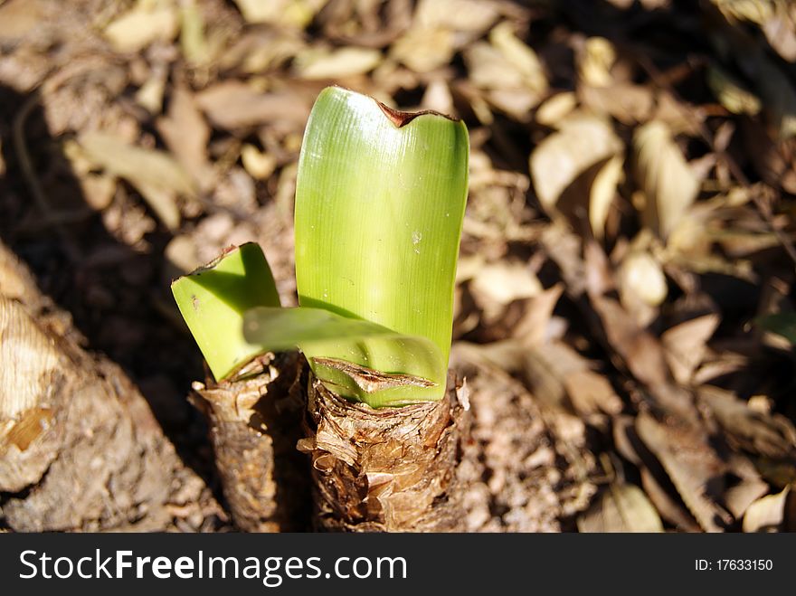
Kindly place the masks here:
MULTIPOLYGON (((399 112, 337 87, 322 91, 299 157, 299 307, 280 308, 259 289, 247 299, 218 295, 225 307, 208 308, 212 284, 194 278, 232 253, 173 286, 216 378, 232 374, 246 355, 299 347, 317 378, 348 399, 373 407, 441 399, 468 155, 459 120, 399 112), (199 297, 196 288, 207 294, 199 297), (197 310, 194 298, 205 307, 197 310), (223 324, 207 320, 216 309, 227 317, 223 324), (235 329, 226 326, 231 312, 235 324, 242 321, 235 329), (211 362, 217 343, 224 345, 220 363, 211 362)), ((263 283, 273 286, 267 264, 261 273, 243 268, 234 288, 263 283)))

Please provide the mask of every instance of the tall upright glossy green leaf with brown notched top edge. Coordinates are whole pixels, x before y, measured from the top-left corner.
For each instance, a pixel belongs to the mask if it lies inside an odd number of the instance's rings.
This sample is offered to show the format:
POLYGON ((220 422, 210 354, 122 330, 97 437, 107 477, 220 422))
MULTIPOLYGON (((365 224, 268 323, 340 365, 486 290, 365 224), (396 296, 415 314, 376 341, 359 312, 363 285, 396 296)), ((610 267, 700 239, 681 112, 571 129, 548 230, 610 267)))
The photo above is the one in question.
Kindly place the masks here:
MULTIPOLYGON (((444 379, 450 352, 468 154, 460 121, 395 112, 335 87, 318 96, 299 158, 299 304, 428 338, 442 355, 440 370, 429 377, 435 380, 444 379)), ((332 357, 412 374, 395 365, 400 359, 411 366, 396 349, 403 340, 368 341, 366 351, 359 340, 350 346, 340 340, 331 353, 302 348, 310 364, 332 357)), ((418 388, 416 399, 440 399, 444 391, 444 383, 418 388)), ((381 402, 377 395, 363 397, 381 402)))

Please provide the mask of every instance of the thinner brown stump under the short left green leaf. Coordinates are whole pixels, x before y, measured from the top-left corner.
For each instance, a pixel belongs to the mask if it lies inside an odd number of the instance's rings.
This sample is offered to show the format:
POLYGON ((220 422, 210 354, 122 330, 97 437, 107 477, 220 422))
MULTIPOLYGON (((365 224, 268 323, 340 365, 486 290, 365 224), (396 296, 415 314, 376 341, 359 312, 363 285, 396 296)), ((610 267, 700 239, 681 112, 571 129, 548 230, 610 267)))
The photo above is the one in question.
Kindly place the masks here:
POLYGON ((296 450, 304 400, 298 354, 255 360, 239 380, 194 383, 232 520, 246 532, 307 529, 306 459, 296 450), (253 369, 253 370, 252 370, 253 369))

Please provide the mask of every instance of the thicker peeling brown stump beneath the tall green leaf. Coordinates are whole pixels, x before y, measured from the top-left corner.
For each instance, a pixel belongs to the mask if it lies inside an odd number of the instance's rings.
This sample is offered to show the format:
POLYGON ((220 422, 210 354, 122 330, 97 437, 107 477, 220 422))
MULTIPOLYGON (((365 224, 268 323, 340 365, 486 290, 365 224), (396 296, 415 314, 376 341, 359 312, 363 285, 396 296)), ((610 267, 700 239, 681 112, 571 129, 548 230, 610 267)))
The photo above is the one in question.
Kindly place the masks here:
POLYGON ((458 473, 469 435, 466 387, 449 374, 440 402, 374 410, 308 375, 307 436, 317 529, 456 532, 466 529, 458 473))

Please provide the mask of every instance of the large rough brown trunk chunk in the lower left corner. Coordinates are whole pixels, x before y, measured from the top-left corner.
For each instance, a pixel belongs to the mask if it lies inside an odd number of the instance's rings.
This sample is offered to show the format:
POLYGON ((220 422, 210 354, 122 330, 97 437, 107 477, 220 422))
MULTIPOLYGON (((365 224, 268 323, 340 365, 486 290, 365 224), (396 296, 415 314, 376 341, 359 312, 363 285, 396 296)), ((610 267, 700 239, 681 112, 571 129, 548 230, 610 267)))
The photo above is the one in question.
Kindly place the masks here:
POLYGON ((78 340, 0 244, 0 523, 164 530, 207 488, 127 375, 78 340))

